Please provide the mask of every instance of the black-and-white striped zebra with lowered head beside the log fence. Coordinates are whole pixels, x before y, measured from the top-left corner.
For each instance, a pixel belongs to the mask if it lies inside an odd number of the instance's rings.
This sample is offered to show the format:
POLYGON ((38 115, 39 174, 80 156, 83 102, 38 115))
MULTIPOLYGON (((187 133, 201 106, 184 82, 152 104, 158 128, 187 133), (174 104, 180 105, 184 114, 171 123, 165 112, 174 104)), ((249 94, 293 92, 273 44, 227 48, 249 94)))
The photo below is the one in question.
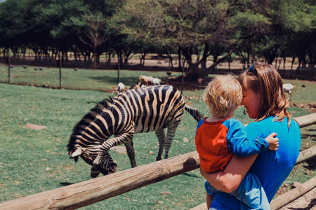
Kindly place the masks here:
POLYGON ((100 172, 112 174, 117 171, 117 164, 108 153, 109 149, 124 144, 131 167, 136 167, 133 135, 155 131, 159 141, 156 160, 162 160, 163 149, 164 158, 168 158, 184 110, 197 122, 203 117, 196 109, 185 105, 183 95, 171 85, 126 90, 99 102, 74 126, 67 145, 68 153, 76 162, 80 156, 92 165, 92 178, 100 172), (164 128, 167 128, 166 136, 164 128), (114 137, 110 138, 112 135, 114 137))

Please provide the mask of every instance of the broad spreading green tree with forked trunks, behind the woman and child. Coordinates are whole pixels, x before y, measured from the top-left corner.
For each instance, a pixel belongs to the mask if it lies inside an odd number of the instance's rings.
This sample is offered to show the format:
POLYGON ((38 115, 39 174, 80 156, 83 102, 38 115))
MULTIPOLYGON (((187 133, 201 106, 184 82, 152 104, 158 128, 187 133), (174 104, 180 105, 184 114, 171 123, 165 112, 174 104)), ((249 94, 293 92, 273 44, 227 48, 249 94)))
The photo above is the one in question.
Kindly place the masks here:
POLYGON ((145 43, 179 48, 190 69, 206 76, 237 45, 244 46, 244 39, 265 31, 270 24, 261 14, 265 10, 257 8, 264 4, 257 2, 128 0, 114 15, 113 22, 121 34, 145 43), (197 62, 192 61, 193 53, 198 57, 197 62), (213 65, 203 71, 210 55, 213 65), (196 71, 199 64, 202 71, 196 71))

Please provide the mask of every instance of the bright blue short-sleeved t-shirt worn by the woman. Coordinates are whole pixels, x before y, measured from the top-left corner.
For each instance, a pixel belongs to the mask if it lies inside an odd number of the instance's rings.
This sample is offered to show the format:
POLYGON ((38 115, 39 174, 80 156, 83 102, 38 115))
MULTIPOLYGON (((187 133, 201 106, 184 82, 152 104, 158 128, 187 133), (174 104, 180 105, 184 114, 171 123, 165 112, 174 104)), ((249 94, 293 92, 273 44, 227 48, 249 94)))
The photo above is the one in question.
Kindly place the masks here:
MULTIPOLYGON (((268 137, 272 132, 277 133, 279 148, 277 151, 264 151, 258 154, 254 165, 249 172, 256 174, 265 190, 265 194, 271 202, 283 181, 291 173, 301 146, 301 132, 298 124, 291 119, 288 128, 288 120, 282 122, 272 121, 274 116, 265 118, 259 122, 249 123, 246 127, 249 139, 268 137)), ((215 209, 239 209, 240 202, 228 193, 216 193, 211 207, 215 209)))

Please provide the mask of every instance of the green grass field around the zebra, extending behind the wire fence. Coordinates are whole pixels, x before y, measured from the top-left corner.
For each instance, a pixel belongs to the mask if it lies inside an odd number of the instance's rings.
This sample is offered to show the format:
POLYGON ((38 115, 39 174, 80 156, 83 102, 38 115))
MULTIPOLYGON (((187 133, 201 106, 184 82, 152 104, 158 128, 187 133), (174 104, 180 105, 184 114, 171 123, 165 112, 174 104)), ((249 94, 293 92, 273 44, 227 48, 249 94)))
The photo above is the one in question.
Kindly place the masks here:
MULTIPOLYGON (((22 75, 21 80, 25 78, 32 80, 29 71, 27 70, 25 75, 17 72, 15 79, 22 75)), ((74 72, 67 69, 63 72, 67 71, 71 71, 71 73, 64 74, 65 80, 68 79, 67 85, 69 84, 71 87, 93 89, 104 85, 105 88, 112 89, 112 86, 117 83, 115 80, 117 71, 79 70, 74 72), (74 73, 77 73, 77 76, 72 77, 74 73), (104 78, 100 80, 100 77, 104 78), (77 81, 78 78, 82 78, 82 80, 77 81)), ((43 72, 46 72, 47 75, 43 76, 41 80, 36 80, 33 76, 34 83, 45 80, 45 83, 51 81, 51 85, 53 82, 55 84, 55 79, 51 79, 53 74, 48 73, 48 69, 44 69, 43 72)), ((129 83, 132 85, 137 82, 140 73, 143 72, 122 71, 121 78, 126 79, 126 85, 129 83)), ((164 72, 151 74, 158 77, 166 76, 164 72)), ((5 75, 6 73, 2 70, 1 80, 5 80, 5 75)), ((14 76, 13 73, 12 76, 14 76)), ((286 80, 285 82, 296 85, 292 102, 315 103, 315 82, 301 80, 286 80), (301 87, 303 84, 305 87, 301 87)), ((190 99, 187 99, 190 106, 206 113, 200 98, 202 90, 187 91, 184 94, 190 96, 190 99)), ((66 146, 72 127, 89 109, 95 106, 96 102, 110 95, 114 95, 114 93, 93 90, 56 90, 0 83, 0 202, 90 179, 91 167, 81 159, 77 163, 70 160, 66 146), (44 125, 47 129, 24 128, 27 123, 44 125)), ((239 107, 235 118, 242 120, 243 123, 251 122, 242 113, 243 111, 244 109, 239 107)), ((294 117, 310 113, 308 109, 296 107, 289 108, 289 111, 294 117)), ((195 151, 196 125, 196 121, 185 113, 173 140, 170 157, 195 151), (184 142, 184 137, 189 139, 189 142, 184 142)), ((316 144, 315 130, 316 125, 301 130, 301 149, 316 144)), ((154 162, 158 151, 157 138, 154 133, 136 134, 133 140, 138 165, 154 162)), ((117 162, 119 171, 130 168, 129 158, 126 154, 114 151, 110 153, 117 162)), ((294 168, 287 183, 304 182, 313 176, 315 176, 315 165, 303 163, 294 168)), ((204 179, 199 175, 198 170, 195 170, 82 209, 190 209, 204 202, 203 182, 204 179)))

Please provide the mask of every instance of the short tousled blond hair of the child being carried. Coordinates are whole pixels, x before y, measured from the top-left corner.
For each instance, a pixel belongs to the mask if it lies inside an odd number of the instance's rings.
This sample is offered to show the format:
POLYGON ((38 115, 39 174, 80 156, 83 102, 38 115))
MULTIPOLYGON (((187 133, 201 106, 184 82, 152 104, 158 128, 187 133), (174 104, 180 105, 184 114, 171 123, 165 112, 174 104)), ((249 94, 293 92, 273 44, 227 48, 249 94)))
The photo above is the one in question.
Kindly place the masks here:
POLYGON ((203 99, 213 116, 225 118, 242 102, 242 86, 230 75, 217 76, 205 88, 203 99))

